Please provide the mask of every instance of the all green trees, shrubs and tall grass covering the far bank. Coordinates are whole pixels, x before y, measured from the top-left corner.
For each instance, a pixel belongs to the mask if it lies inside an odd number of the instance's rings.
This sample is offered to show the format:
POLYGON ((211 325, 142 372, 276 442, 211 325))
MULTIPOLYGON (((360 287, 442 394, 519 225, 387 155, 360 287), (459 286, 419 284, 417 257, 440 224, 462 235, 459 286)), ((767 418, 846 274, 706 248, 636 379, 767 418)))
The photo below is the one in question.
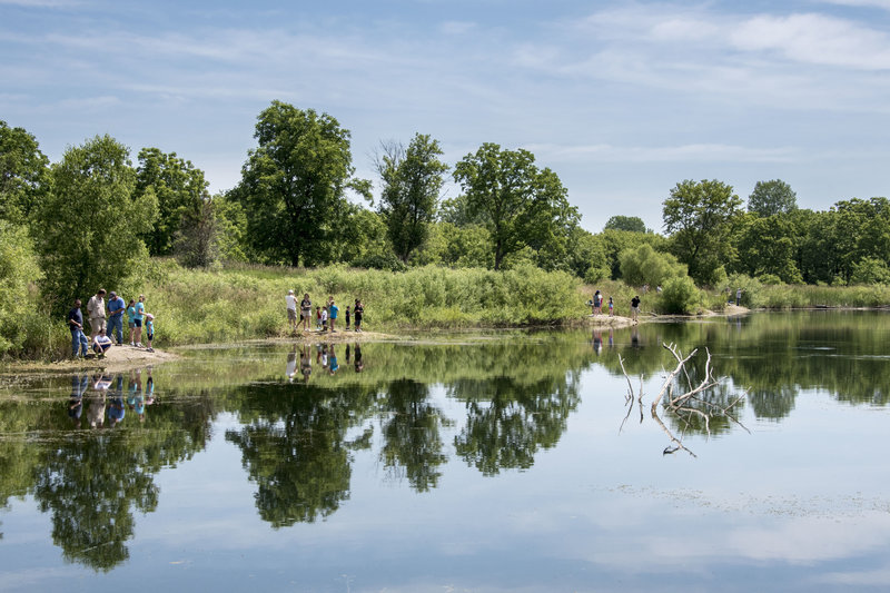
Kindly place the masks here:
POLYGON ((0 356, 59 356, 65 312, 100 287, 148 295, 159 345, 280 335, 288 288, 360 297, 387 328, 571 323, 596 288, 620 315, 636 293, 659 314, 719 310, 738 288, 750 307, 890 303, 887 198, 812 211, 773 179, 743 211, 731 186, 684 180, 662 204, 666 236, 621 215, 593 234, 527 150, 483 144, 453 167, 462 194, 443 200, 438 140, 384 144, 375 210, 347 199, 374 205, 334 117, 273 101, 255 138, 240 181, 209 196, 175 152, 144 148, 134 167, 129 148, 97 136, 50 165, 0 121, 0 356), (171 256, 184 267, 160 259, 171 256))

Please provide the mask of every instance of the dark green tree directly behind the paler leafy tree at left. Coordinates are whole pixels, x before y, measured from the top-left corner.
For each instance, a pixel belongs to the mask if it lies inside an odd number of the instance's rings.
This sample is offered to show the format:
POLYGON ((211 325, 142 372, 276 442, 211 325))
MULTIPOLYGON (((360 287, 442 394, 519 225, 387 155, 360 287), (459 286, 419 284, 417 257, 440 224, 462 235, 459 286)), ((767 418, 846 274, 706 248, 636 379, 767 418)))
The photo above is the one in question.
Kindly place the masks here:
POLYGON ((158 200, 158 218, 145 237, 146 244, 151 255, 169 255, 182 218, 194 217, 204 208, 207 181, 202 170, 176 152, 144 148, 138 158, 134 197, 139 199, 151 190, 158 200))

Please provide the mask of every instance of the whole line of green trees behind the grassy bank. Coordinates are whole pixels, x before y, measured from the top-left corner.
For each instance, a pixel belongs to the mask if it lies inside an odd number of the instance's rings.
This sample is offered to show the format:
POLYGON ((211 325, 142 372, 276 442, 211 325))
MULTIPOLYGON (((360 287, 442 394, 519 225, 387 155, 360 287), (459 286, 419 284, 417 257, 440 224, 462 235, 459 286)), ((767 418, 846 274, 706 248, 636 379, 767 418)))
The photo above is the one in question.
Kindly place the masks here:
POLYGON ((43 332, 41 315, 100 286, 140 291, 152 257, 210 269, 531 265, 589 284, 663 285, 660 306, 676 313, 704 304, 702 286, 890 281, 886 198, 812 211, 773 180, 744 211, 732 187, 686 180, 663 202, 665 236, 626 216, 593 234, 527 150, 484 144, 449 166, 417 134, 380 145, 372 182, 355 176, 350 134, 327 113, 273 101, 255 138, 238 185, 211 196, 204 171, 175 152, 144 148, 134 162, 97 136, 50 164, 31 134, 0 121, 0 352, 20 350, 43 332), (462 189, 452 199, 441 199, 446 176, 462 189))

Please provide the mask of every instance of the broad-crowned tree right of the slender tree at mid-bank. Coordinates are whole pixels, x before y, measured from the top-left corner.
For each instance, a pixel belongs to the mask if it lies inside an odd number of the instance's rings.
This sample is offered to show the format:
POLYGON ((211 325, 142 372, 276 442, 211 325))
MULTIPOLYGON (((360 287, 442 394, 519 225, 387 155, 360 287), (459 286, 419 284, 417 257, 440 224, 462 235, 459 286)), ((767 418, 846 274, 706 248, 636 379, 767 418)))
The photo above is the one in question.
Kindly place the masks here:
POLYGON ((527 150, 502 150, 484 144, 454 169, 466 195, 467 218, 482 216, 491 234, 494 269, 523 247, 541 249, 565 240, 577 225, 577 209, 568 206, 566 189, 550 169, 538 169, 527 150))

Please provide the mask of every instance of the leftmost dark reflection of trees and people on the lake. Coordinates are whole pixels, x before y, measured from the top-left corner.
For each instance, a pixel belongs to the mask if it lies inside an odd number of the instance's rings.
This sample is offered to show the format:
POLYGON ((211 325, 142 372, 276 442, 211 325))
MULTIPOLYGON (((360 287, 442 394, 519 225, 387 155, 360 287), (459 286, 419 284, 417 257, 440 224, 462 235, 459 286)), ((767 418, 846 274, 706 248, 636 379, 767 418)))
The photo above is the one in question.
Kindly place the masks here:
MULTIPOLYGON (((135 382, 134 375, 129 378, 135 382)), ((158 503, 155 474, 202 449, 210 433, 212 405, 200 397, 189 405, 155 406, 144 423, 126 413, 113 428, 99 423, 99 411, 103 418, 109 403, 122 404, 126 379, 76 375, 66 399, 39 406, 0 404, 0 432, 39 436, 37 442, 0 441, 3 502, 7 493, 33 494, 40 511, 50 514, 52 540, 63 557, 97 571, 129 557, 126 542, 134 533, 134 513, 152 512, 158 503), (88 384, 102 388, 85 393, 88 384), (81 423, 91 409, 96 428, 81 423)), ((116 408, 112 417, 117 421, 120 413, 116 408)))

